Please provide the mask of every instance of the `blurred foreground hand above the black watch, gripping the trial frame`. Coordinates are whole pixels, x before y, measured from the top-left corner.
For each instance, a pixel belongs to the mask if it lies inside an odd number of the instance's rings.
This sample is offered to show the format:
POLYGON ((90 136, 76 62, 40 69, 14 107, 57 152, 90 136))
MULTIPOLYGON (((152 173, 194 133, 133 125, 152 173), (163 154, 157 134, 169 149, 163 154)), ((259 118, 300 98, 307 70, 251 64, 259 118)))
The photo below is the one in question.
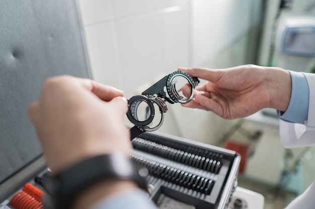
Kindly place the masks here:
POLYGON ((132 149, 123 123, 127 100, 122 91, 71 76, 48 79, 29 107, 43 153, 53 172, 81 159, 132 149))

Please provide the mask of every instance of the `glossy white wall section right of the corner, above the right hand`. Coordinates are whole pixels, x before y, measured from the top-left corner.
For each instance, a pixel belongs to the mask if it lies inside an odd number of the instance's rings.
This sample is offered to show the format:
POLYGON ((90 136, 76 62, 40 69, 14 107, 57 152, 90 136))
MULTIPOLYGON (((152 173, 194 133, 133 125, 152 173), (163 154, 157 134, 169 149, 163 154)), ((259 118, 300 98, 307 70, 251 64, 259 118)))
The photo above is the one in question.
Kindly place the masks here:
POLYGON ((261 1, 192 1, 193 66, 203 66, 259 24, 261 1), (260 10, 259 10, 260 9, 260 10))

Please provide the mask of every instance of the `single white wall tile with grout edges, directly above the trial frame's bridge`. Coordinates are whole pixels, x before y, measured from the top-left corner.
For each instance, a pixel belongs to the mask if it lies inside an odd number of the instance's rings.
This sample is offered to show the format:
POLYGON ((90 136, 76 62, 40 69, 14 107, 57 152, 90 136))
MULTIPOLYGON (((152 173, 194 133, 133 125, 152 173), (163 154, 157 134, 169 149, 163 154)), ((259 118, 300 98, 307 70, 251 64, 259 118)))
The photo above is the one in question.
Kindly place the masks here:
POLYGON ((116 22, 122 79, 128 97, 143 82, 165 72, 162 16, 153 14, 116 22))

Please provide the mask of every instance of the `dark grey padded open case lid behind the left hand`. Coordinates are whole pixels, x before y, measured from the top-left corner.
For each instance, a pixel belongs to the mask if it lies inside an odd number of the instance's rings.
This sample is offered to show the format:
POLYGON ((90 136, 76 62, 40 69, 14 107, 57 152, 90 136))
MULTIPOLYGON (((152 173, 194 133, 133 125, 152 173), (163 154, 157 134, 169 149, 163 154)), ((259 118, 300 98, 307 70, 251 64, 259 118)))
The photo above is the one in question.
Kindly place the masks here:
POLYGON ((0 187, 41 154, 27 108, 46 78, 91 78, 83 40, 74 0, 0 0, 0 187))

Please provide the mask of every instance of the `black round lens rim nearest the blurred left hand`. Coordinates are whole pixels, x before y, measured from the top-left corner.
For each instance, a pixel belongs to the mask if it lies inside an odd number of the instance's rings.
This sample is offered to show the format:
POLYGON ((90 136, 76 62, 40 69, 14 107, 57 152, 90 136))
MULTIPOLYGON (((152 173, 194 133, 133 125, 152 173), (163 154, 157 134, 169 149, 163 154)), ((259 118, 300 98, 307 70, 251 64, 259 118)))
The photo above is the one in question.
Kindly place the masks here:
POLYGON ((153 118, 154 118, 154 106, 153 106, 153 103, 151 102, 151 100, 149 100, 146 96, 144 95, 136 95, 136 96, 133 96, 131 97, 129 100, 128 100, 128 112, 127 112, 127 117, 128 119, 130 120, 131 123, 133 123, 134 125, 136 126, 146 126, 148 124, 150 124, 152 121, 153 121, 153 118), (145 102, 149 109, 150 109, 150 116, 148 119, 144 120, 144 121, 139 121, 137 119, 135 119, 133 117, 133 114, 136 114, 134 113, 134 111, 136 110, 132 110, 132 105, 136 102, 139 102, 139 104, 141 102, 145 102))

